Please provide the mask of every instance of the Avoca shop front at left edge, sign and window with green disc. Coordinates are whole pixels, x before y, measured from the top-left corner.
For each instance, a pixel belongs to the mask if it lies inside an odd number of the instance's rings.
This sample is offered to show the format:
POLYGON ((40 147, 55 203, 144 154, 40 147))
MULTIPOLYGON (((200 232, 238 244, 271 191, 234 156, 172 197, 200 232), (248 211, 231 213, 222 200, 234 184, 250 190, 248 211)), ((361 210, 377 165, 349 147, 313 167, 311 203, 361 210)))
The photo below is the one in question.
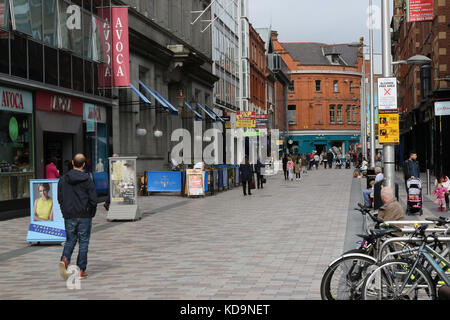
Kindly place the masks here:
POLYGON ((31 92, 0 86, 0 145, 0 212, 26 209, 35 174, 31 92))

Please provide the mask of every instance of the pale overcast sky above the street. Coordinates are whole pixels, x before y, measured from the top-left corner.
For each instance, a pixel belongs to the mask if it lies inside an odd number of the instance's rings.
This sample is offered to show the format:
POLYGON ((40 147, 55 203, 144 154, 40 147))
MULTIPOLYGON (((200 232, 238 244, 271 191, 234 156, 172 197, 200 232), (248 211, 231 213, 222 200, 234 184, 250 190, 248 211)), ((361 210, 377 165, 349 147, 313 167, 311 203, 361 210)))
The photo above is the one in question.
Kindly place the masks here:
MULTIPOLYGON (((392 4, 390 12, 392 12, 392 4)), ((374 52, 381 53, 381 0, 374 52)), ((369 0, 249 0, 250 23, 255 28, 272 25, 281 42, 359 42, 369 44, 369 0)))

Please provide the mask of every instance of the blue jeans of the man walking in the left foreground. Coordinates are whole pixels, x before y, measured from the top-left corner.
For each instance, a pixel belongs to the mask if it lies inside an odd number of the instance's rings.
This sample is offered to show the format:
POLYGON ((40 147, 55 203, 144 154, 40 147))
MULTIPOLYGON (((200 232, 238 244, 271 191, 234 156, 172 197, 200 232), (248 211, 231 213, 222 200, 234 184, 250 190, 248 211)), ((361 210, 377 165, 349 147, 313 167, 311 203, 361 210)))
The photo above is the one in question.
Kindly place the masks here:
POLYGON ((92 218, 74 218, 65 219, 64 225, 66 227, 66 244, 64 245, 63 257, 66 257, 70 263, 75 245, 79 245, 77 266, 82 271, 86 271, 87 267, 87 253, 89 247, 89 240, 91 238, 92 218))

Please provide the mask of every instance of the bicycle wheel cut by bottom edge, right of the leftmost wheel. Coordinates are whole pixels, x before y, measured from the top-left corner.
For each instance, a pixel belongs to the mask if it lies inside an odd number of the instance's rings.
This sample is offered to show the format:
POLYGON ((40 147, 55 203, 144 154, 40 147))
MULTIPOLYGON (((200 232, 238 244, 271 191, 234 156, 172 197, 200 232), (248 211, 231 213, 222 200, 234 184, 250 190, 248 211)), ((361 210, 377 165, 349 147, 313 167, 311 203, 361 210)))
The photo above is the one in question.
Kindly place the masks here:
POLYGON ((364 300, 434 300, 436 287, 431 276, 410 260, 390 260, 381 263, 367 277, 362 287, 364 300))

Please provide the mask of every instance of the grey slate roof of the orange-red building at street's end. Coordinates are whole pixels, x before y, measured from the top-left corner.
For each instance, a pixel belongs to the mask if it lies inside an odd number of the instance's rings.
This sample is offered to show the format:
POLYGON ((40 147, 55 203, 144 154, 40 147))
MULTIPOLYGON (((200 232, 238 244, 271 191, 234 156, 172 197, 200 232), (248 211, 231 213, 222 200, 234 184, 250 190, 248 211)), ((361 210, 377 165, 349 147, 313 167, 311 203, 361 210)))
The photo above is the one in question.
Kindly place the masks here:
POLYGON ((339 57, 338 63, 343 66, 355 66, 358 63, 358 47, 348 44, 325 44, 317 42, 284 42, 281 45, 292 58, 302 65, 335 65, 328 55, 339 57))

